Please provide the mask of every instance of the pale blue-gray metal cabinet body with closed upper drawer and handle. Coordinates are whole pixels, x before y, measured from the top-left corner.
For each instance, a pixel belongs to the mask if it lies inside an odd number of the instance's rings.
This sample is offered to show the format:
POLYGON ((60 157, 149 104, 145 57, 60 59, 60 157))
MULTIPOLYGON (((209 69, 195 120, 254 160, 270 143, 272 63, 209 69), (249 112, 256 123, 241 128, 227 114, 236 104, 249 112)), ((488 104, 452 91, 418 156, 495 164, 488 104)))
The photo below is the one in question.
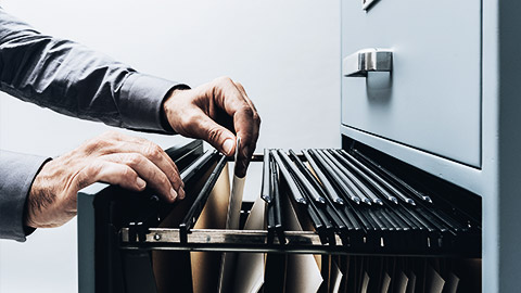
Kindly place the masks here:
POLYGON ((481 195, 483 291, 519 291, 521 3, 341 3, 342 135, 481 195))

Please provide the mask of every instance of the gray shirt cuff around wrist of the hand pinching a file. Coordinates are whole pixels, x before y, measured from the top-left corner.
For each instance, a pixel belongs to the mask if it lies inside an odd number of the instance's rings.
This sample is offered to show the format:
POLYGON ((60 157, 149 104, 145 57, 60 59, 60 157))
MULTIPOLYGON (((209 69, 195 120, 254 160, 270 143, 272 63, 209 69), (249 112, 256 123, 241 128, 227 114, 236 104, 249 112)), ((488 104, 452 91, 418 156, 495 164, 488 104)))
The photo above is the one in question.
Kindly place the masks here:
POLYGON ((174 133, 162 117, 164 99, 174 88, 188 88, 182 84, 132 73, 122 86, 119 113, 126 128, 174 133))

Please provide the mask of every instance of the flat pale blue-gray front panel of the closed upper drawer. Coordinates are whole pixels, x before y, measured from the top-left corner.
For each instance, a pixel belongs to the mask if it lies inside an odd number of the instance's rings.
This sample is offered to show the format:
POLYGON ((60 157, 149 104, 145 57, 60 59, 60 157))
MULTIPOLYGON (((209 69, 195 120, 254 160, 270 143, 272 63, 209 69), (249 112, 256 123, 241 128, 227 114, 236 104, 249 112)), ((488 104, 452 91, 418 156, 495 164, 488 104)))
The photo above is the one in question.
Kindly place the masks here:
POLYGON ((481 166, 481 1, 342 1, 342 58, 393 51, 393 72, 342 77, 342 124, 481 166))

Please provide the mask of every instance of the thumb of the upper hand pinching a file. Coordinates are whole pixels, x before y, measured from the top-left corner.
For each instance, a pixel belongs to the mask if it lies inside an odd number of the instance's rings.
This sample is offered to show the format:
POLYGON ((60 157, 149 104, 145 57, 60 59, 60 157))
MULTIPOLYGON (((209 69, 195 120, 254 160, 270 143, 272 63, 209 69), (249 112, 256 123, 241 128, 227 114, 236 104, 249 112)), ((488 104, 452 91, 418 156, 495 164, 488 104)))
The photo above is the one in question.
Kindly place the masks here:
POLYGON ((227 128, 218 125, 211 117, 201 115, 199 128, 195 132, 199 138, 206 140, 212 146, 227 156, 236 152, 236 136, 227 128))

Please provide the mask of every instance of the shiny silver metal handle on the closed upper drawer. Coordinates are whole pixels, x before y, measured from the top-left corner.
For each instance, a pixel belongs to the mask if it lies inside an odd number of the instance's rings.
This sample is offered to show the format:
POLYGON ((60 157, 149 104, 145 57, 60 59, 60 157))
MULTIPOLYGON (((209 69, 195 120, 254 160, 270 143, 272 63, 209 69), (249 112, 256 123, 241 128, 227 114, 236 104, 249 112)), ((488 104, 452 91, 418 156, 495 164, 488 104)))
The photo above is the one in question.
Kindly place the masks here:
POLYGON ((368 72, 392 72, 393 51, 364 49, 344 58, 342 73, 346 77, 367 77, 368 72))

